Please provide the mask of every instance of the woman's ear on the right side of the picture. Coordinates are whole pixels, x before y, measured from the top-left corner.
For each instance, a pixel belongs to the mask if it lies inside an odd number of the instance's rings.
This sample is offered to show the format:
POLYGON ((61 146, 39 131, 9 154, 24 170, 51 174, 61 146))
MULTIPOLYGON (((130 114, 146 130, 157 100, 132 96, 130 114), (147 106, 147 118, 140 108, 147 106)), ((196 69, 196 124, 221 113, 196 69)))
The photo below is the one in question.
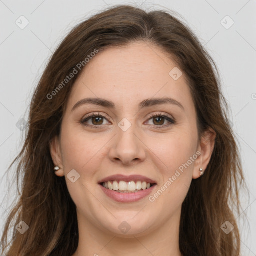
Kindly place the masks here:
POLYGON ((194 164, 193 179, 200 177, 199 168, 202 168, 203 172, 205 172, 214 149, 215 138, 216 132, 213 129, 208 128, 203 132, 197 147, 197 151, 201 154, 197 157, 194 164))

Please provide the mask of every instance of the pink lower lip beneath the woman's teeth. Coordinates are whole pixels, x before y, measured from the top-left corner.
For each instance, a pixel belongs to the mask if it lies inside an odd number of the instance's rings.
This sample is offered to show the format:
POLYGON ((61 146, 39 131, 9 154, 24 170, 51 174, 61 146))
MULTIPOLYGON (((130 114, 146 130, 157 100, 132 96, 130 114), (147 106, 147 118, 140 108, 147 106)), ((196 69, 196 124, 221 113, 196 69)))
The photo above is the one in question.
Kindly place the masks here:
POLYGON ((114 190, 107 189, 103 187, 102 185, 99 185, 103 192, 113 200, 117 202, 136 202, 146 196, 148 196, 154 189, 156 185, 152 185, 151 187, 145 189, 145 190, 139 190, 138 192, 134 193, 118 193, 114 190))

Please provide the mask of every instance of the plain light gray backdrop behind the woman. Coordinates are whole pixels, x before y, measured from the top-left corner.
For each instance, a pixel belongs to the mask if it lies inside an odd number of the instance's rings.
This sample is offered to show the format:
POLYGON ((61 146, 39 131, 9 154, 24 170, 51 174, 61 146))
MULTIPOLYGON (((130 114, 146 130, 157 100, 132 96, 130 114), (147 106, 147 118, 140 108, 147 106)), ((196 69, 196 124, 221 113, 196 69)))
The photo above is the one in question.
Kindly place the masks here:
MULTIPOLYGON (((32 91, 58 43, 81 20, 107 5, 128 3, 145 9, 177 11, 199 37, 220 70, 224 95, 231 108, 233 123, 241 150, 244 173, 250 197, 244 197, 244 212, 237 216, 242 231, 242 255, 256 255, 256 1, 255 0, 0 0, 0 234, 3 222, 15 198, 10 185, 13 169, 4 173, 21 148, 22 132, 16 123, 24 118, 32 91), (23 15, 29 24, 20 29, 15 21, 23 15), (224 18, 228 15, 231 19, 224 18), (223 19, 224 18, 224 19, 223 19), (222 24, 223 22, 226 24, 222 24), (242 219, 248 215, 248 223, 242 219)), ((21 24, 20 24, 21 25, 21 24)), ((224 171, 224 170, 223 170, 224 171)), ((218 185, 218 184, 216 184, 218 185)))

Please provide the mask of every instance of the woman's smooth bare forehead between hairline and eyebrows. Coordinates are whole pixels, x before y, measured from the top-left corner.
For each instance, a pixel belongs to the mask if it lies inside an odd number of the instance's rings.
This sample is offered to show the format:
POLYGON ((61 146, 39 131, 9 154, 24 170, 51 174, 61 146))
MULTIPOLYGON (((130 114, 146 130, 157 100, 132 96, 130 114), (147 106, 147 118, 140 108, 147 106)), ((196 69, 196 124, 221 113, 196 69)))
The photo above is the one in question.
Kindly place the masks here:
POLYGON ((193 105, 185 75, 175 62, 159 47, 135 42, 97 53, 73 85, 68 109, 88 97, 109 99, 123 110, 147 98, 167 96, 182 101, 185 108, 193 105))

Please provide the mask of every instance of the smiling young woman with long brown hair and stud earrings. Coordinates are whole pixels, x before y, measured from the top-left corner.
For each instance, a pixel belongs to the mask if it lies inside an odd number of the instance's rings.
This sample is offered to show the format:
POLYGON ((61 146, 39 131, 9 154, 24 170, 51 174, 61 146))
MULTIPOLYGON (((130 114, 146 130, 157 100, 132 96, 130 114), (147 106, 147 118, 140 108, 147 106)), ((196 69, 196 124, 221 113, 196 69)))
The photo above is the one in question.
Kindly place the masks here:
POLYGON ((7 256, 239 255, 244 178, 216 67, 166 12, 122 5, 78 24, 15 161, 7 256))

